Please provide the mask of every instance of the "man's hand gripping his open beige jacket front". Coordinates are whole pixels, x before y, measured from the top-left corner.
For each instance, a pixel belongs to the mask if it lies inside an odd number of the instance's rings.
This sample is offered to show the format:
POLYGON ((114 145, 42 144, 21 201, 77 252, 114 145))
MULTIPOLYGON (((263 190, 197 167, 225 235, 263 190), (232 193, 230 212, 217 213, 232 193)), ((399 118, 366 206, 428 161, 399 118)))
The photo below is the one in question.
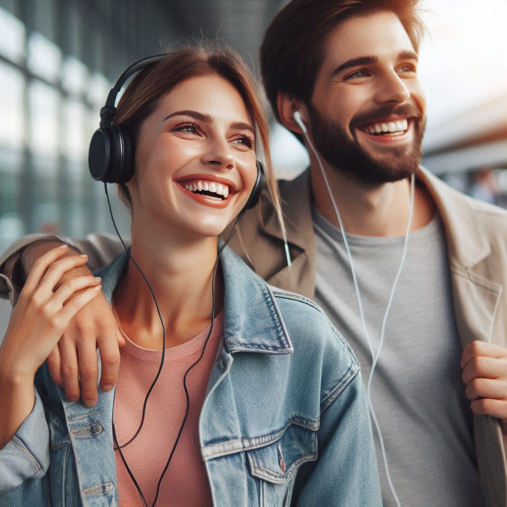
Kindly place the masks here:
POLYGON ((477 415, 500 419, 503 440, 507 437, 507 349, 491 343, 470 343, 461 356, 465 395, 477 415))

